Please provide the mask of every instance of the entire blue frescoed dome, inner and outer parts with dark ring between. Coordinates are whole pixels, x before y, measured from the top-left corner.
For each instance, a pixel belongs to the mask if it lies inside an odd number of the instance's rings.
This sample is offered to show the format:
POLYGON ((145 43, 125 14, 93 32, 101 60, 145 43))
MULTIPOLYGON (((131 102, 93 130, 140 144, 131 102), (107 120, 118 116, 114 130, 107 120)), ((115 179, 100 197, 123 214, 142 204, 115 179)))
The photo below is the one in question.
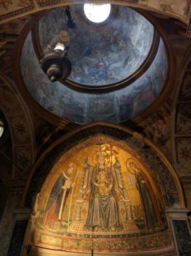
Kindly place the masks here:
POLYGON ((142 113, 167 79, 167 52, 157 30, 126 6, 112 5, 109 18, 98 24, 86 18, 83 5, 70 6, 74 28, 68 28, 65 11, 46 13, 22 48, 22 78, 38 106, 75 124, 121 123, 142 113), (52 83, 39 60, 57 42, 69 46, 72 73, 52 83))

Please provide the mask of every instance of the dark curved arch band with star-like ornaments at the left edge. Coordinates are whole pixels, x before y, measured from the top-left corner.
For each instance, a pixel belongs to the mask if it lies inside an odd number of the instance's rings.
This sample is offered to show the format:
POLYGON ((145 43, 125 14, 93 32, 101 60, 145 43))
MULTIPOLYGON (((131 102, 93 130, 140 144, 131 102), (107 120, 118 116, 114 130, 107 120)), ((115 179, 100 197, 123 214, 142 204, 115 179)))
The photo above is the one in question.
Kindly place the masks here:
POLYGON ((33 123, 15 84, 2 72, 0 72, 0 106, 11 132, 13 163, 15 163, 11 179, 27 179, 36 156, 33 123))

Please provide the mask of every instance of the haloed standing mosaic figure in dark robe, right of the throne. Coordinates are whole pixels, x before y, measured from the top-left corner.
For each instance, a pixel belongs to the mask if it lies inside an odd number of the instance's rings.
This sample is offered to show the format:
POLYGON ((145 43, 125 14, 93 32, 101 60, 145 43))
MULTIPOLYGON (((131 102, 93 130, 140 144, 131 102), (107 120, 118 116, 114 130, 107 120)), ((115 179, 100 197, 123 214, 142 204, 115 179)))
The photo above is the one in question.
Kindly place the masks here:
POLYGON ((144 216, 146 218, 146 228, 150 231, 155 230, 160 224, 162 224, 161 218, 155 209, 155 206, 157 207, 157 205, 154 206, 153 198, 151 197, 148 184, 146 183, 146 180, 144 180, 144 177, 142 176, 139 168, 137 168, 134 162, 130 162, 129 165, 132 171, 135 173, 137 180, 137 189, 139 190, 141 196, 142 207, 144 208, 144 216))

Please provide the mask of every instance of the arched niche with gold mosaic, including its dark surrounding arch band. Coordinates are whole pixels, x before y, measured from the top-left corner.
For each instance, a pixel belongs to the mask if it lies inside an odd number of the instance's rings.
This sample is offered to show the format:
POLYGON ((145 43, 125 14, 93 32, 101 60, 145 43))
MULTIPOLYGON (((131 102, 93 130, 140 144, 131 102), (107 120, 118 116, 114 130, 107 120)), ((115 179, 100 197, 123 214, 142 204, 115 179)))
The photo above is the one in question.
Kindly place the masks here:
POLYGON ((165 210, 185 204, 176 172, 150 141, 102 122, 44 152, 28 180, 27 207, 35 196, 28 255, 84 255, 92 246, 98 255, 173 255, 165 210))

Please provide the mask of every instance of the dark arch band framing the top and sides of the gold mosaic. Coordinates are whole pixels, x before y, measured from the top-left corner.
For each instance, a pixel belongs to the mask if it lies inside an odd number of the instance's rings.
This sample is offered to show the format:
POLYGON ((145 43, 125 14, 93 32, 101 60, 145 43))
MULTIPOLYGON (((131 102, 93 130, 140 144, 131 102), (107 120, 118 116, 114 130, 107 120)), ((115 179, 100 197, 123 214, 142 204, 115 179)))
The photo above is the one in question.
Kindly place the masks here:
POLYGON ((112 137, 117 141, 120 140, 122 145, 127 145, 132 148, 146 163, 149 163, 151 172, 158 177, 160 185, 165 188, 168 194, 165 195, 167 205, 170 207, 172 207, 173 204, 185 205, 178 175, 164 154, 141 134, 127 129, 126 127, 122 127, 121 125, 107 122, 95 122, 82 125, 52 144, 38 161, 36 161, 36 164, 34 164, 34 168, 27 181, 26 191, 22 200, 23 204, 27 207, 31 207, 35 194, 40 192, 52 166, 54 166, 61 156, 69 152, 69 150, 72 150, 73 147, 80 145, 82 141, 88 140, 89 137, 93 138, 98 134, 103 135, 103 137, 112 137))

